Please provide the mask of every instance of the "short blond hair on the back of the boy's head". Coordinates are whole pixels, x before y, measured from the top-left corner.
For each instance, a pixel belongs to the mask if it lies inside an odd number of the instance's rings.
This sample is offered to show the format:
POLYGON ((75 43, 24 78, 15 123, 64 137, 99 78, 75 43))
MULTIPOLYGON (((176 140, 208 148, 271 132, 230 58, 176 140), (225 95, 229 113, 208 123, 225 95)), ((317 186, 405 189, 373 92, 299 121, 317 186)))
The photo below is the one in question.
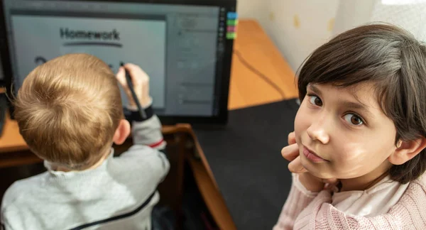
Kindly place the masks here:
POLYGON ((29 148, 73 170, 89 168, 107 153, 124 118, 114 73, 87 54, 63 55, 36 67, 14 104, 29 148))

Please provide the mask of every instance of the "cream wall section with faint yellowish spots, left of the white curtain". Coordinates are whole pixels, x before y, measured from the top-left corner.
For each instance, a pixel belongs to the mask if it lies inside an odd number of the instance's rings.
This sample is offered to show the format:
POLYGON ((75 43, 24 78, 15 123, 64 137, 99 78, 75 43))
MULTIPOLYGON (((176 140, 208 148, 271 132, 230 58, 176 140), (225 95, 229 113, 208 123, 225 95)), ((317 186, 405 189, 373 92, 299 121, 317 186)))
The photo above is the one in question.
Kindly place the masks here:
POLYGON ((332 35, 339 0, 271 0, 267 33, 293 70, 332 35))

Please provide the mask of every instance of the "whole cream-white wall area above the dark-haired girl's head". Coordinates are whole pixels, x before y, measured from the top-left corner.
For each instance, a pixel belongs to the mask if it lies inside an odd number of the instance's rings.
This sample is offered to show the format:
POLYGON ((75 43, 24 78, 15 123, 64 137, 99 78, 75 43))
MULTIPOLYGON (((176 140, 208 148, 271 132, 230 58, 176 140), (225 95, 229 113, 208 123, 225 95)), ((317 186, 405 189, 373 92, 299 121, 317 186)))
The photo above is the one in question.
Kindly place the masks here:
POLYGON ((240 18, 255 18, 293 70, 315 48, 348 29, 385 21, 426 41, 426 0, 238 0, 240 18))

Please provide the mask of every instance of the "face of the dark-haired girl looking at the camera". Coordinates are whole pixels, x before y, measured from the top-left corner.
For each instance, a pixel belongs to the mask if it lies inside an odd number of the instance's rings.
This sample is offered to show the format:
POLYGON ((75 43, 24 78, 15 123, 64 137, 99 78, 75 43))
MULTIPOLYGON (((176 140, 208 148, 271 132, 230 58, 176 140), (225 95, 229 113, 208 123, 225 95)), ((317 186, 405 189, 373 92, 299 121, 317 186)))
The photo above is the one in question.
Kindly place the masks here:
POLYGON ((309 84, 295 118, 302 165, 320 178, 375 180, 390 167, 396 129, 366 83, 309 84))

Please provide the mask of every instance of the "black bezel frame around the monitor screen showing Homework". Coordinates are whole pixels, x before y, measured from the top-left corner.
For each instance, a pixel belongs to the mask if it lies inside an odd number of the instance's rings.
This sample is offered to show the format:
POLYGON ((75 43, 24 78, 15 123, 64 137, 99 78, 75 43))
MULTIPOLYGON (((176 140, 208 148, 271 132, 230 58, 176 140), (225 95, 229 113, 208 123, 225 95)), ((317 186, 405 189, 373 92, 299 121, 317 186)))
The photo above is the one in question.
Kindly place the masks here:
MULTIPOLYGON (((60 1, 60 0, 48 0, 60 1)), ((193 5, 193 6, 220 6, 226 9, 226 12, 236 11, 236 0, 68 0, 68 1, 105 1, 105 2, 129 2, 141 4, 175 4, 175 5, 193 5)), ((9 51, 9 38, 6 35, 6 18, 4 16, 3 0, 0 0, 0 59, 4 72, 4 84, 6 86, 6 94, 9 98, 13 98, 13 74, 9 51)), ((219 106, 217 116, 159 116, 163 124, 226 124, 228 119, 228 97, 229 97, 229 81, 231 75, 231 60, 234 40, 224 39, 224 57, 222 63, 222 75, 216 77, 215 90, 220 89, 219 106)), ((11 119, 13 119, 13 103, 9 101, 9 111, 11 119)))

